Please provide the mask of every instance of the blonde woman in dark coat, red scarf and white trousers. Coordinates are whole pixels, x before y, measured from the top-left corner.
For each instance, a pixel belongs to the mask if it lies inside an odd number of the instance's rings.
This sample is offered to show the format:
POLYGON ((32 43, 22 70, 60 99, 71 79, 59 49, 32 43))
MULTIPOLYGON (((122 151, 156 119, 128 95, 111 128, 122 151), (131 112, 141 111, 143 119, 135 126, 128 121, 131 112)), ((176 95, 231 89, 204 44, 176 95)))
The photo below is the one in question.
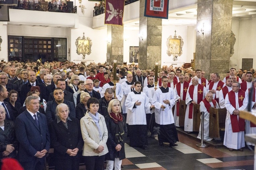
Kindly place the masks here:
POLYGON ((124 143, 127 136, 126 121, 121 115, 121 104, 117 99, 113 99, 108 104, 108 115, 105 116, 108 139, 106 154, 106 170, 121 170, 122 159, 125 158, 124 143))

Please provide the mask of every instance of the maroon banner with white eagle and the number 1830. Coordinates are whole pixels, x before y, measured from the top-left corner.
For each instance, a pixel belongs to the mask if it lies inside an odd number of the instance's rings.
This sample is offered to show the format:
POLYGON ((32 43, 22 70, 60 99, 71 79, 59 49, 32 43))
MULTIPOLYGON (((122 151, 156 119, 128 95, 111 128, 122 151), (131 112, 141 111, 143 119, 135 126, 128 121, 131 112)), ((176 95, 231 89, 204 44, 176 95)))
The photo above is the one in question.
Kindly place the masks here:
POLYGON ((124 0, 106 0, 105 24, 123 25, 124 0))

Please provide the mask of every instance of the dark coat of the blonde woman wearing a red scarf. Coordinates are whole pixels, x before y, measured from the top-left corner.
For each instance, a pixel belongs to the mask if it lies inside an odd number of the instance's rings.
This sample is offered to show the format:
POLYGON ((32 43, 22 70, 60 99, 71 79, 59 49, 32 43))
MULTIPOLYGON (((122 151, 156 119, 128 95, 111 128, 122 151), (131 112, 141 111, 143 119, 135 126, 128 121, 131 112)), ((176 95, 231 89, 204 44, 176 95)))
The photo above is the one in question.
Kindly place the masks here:
POLYGON ((108 153, 106 154, 106 160, 114 161, 115 155, 119 155, 118 158, 120 160, 125 159, 124 143, 127 137, 127 127, 126 127, 125 118, 123 115, 122 117, 123 117, 122 125, 124 130, 124 135, 123 135, 124 138, 122 142, 116 143, 115 127, 117 126, 117 124, 113 121, 113 119, 109 115, 105 116, 105 122, 107 125, 107 131, 108 131, 108 139, 107 139, 108 153), (122 146, 120 151, 115 150, 115 147, 117 144, 120 144, 122 146))

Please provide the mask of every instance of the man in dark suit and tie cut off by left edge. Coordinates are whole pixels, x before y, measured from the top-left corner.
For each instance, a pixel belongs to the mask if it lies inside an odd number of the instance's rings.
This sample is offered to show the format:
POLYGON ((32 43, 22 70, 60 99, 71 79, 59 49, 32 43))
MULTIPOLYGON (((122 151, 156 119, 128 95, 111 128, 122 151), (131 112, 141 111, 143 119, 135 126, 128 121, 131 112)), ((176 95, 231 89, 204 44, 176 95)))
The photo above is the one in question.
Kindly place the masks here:
POLYGON ((4 106, 4 109, 6 112, 6 116, 5 116, 6 119, 14 121, 17 115, 13 115, 14 111, 12 110, 11 106, 9 105, 9 103, 4 101, 4 99, 6 99, 7 97, 8 97, 7 89, 3 85, 0 85, 0 105, 4 106))

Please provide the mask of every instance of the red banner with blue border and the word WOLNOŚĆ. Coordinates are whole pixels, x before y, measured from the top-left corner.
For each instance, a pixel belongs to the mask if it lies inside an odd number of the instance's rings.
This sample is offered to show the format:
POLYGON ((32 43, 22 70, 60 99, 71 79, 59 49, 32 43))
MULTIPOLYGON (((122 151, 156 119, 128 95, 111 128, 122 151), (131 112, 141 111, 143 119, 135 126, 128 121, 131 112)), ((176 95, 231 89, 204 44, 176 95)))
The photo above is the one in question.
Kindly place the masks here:
POLYGON ((146 0, 145 17, 168 19, 169 0, 146 0))

